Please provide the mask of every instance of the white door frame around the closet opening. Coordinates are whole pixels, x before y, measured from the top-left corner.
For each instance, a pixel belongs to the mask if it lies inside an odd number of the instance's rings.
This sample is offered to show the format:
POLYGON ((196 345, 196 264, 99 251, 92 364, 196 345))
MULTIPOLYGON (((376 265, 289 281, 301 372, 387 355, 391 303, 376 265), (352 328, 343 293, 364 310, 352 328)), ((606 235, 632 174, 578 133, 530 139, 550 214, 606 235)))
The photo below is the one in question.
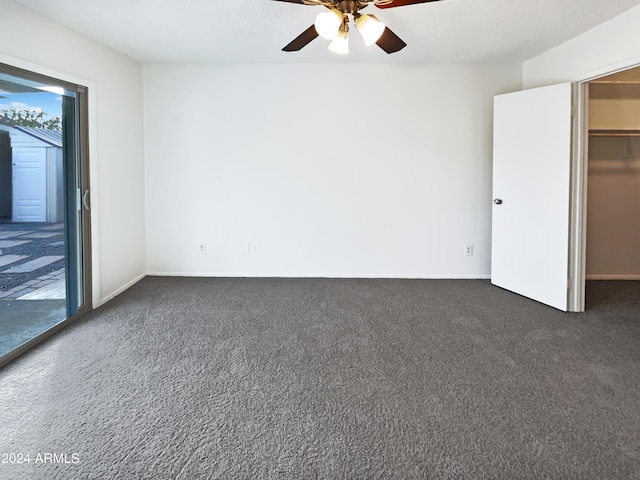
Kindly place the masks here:
POLYGON ((587 280, 587 181, 589 162, 589 82, 640 67, 640 58, 589 72, 574 79, 571 198, 569 202, 569 296, 570 312, 584 312, 587 280))

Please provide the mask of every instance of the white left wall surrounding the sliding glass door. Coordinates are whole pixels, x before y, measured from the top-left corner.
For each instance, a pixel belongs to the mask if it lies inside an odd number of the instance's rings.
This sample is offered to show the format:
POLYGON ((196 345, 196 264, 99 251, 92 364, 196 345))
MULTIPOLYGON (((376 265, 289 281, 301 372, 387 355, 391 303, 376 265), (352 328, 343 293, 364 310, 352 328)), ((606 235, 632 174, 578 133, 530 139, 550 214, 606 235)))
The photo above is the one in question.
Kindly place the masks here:
POLYGON ((0 62, 89 87, 94 304, 145 272, 142 67, 10 0, 0 62))

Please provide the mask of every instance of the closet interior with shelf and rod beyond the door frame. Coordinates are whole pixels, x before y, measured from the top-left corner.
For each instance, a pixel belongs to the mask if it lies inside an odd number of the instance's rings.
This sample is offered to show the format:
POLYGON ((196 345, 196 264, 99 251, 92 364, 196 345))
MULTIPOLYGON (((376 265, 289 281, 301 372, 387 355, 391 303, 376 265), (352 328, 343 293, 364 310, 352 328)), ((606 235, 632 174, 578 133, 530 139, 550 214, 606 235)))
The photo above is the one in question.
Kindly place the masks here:
POLYGON ((588 83, 585 306, 640 305, 640 67, 588 83))

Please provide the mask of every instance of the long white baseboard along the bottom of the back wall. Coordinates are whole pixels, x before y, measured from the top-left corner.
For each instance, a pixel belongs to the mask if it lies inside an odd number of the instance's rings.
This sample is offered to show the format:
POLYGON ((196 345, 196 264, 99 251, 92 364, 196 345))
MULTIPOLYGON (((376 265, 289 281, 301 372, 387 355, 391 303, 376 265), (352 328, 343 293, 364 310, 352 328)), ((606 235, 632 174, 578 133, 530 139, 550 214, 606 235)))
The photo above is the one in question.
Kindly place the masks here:
POLYGON ((210 278, 394 278, 416 280, 487 280, 491 275, 477 274, 357 274, 357 273, 231 273, 231 272, 147 272, 154 277, 210 277, 210 278))

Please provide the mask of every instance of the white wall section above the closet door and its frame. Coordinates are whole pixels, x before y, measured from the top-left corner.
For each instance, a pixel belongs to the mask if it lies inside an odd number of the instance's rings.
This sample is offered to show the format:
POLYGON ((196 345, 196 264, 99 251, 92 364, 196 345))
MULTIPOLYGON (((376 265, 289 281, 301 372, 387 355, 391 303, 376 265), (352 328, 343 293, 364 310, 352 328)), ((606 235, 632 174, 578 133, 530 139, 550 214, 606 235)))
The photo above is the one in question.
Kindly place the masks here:
POLYGON ((524 88, 579 81, 640 64, 640 6, 523 64, 524 88))

